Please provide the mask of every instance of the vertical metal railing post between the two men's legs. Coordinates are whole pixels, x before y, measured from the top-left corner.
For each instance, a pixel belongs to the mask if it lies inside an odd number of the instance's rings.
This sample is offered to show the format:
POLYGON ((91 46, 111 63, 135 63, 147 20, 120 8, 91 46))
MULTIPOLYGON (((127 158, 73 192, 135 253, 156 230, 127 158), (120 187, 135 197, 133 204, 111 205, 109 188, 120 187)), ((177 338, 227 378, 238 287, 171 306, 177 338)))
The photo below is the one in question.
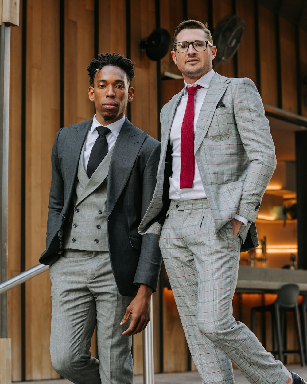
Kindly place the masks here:
POLYGON ((153 379, 153 326, 152 297, 150 300, 150 321, 143 331, 143 377, 144 384, 154 384, 153 379))

